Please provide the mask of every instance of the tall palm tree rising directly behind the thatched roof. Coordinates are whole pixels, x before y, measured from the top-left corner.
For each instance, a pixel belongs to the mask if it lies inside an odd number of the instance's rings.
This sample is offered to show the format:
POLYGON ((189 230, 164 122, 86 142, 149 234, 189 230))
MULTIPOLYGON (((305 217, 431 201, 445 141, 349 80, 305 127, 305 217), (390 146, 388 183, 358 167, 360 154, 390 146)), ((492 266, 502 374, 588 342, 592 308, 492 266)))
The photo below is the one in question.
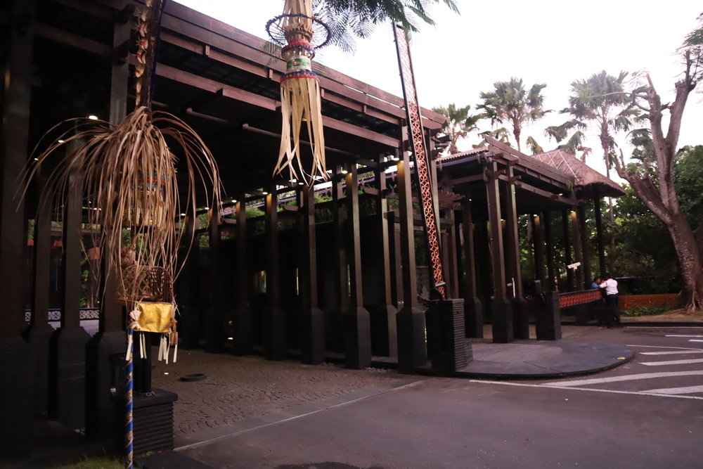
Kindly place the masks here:
POLYGON ((628 131, 638 115, 638 110, 624 93, 624 80, 627 75, 627 72, 620 72, 618 77, 614 77, 602 70, 587 79, 572 82, 569 107, 560 111, 562 114, 572 115, 572 119, 545 129, 545 133, 557 142, 566 139, 569 131, 575 130, 567 145, 569 148, 581 150, 581 131, 593 124, 598 129, 605 160, 605 174, 608 177, 612 166, 611 155, 617 147, 613 134, 628 131))

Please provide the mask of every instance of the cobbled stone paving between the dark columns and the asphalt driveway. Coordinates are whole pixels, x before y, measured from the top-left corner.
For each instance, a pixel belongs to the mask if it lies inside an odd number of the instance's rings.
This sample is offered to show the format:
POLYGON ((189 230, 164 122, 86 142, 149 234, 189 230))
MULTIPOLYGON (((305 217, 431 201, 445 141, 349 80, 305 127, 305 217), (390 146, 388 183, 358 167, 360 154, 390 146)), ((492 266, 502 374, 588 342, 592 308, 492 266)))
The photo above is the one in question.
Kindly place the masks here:
POLYGON ((381 368, 349 370, 333 364, 304 365, 202 350, 179 350, 176 364, 155 364, 153 387, 179 396, 174 406, 176 437, 407 378, 381 368), (193 373, 205 373, 207 378, 181 381, 193 373))

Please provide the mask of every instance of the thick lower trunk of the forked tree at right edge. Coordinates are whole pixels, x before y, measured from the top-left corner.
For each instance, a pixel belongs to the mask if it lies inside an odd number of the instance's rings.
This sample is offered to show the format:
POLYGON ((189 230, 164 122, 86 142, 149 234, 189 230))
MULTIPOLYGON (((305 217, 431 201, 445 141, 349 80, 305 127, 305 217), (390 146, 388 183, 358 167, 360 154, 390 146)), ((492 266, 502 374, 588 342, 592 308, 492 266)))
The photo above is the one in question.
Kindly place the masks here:
POLYGON ((673 240, 678 262, 683 276, 683 290, 677 306, 688 311, 703 309, 703 257, 690 225, 683 213, 671 215, 671 223, 666 224, 673 240))

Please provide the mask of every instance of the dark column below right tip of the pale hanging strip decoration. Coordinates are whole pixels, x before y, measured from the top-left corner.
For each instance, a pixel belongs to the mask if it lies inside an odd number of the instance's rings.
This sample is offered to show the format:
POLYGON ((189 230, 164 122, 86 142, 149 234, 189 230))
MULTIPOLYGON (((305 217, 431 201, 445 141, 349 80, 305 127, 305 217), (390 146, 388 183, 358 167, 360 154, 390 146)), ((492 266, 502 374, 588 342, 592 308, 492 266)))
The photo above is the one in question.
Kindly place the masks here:
POLYGON ((302 299, 300 314, 300 358, 305 364, 325 361, 325 316, 318 307, 317 238, 315 233, 315 188, 299 188, 301 221, 299 289, 302 299))

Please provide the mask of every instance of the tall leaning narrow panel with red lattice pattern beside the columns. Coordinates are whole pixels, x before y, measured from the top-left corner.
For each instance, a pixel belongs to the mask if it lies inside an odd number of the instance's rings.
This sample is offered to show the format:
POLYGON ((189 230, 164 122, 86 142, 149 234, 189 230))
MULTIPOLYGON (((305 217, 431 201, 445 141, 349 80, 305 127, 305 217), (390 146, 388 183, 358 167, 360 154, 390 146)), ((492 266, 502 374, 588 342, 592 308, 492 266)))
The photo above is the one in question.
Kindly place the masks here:
POLYGON ((410 47, 405 37, 403 29, 399 25, 393 25, 393 34, 398 51, 398 62, 401 69, 403 82, 403 96, 405 99, 406 113, 408 115, 408 127, 411 130, 411 141, 413 157, 415 158, 415 174, 418 177, 420 186, 420 199, 423 205, 423 219, 425 221, 425 232, 427 233, 427 248, 430 252, 432 262, 432 276, 434 285, 442 300, 446 297, 444 293, 444 274, 442 274, 441 255, 439 252, 439 233, 437 229, 437 217, 434 212, 434 200, 432 197, 432 183, 430 181, 430 163, 425 150, 425 137, 423 135, 423 123, 420 117, 420 107, 418 106, 418 94, 415 90, 415 77, 413 75, 413 63, 410 58, 410 47))

